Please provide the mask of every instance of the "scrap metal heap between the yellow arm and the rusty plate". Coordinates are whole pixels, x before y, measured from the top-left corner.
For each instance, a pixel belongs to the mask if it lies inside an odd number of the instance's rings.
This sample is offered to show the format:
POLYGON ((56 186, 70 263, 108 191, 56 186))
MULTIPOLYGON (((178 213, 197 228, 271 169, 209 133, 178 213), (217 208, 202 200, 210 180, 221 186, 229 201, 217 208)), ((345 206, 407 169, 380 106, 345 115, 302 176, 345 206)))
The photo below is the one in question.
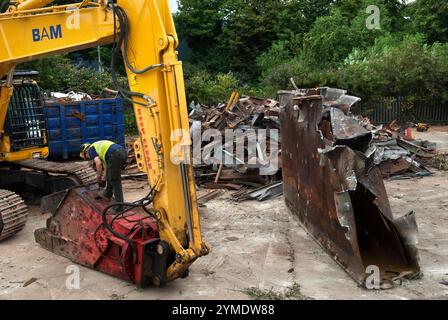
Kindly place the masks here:
POLYGON ((275 170, 266 173, 267 166, 279 168, 280 163, 280 106, 272 99, 258 99, 253 97, 242 97, 234 93, 229 103, 218 106, 204 106, 191 104, 191 135, 194 143, 200 141, 202 156, 195 163, 194 170, 197 184, 205 189, 232 190, 236 191, 234 199, 237 201, 245 199, 266 200, 281 195, 281 172, 275 170), (221 135, 220 141, 214 139, 212 142, 203 142, 201 136, 207 130, 215 130, 221 135), (226 139, 229 130, 236 133, 231 141, 226 139), (261 133, 263 130, 263 133, 261 133), (274 134, 273 132, 277 132, 274 134), (260 144, 260 134, 266 134, 266 144, 260 144), (256 141, 256 161, 250 161, 250 152, 247 150, 247 141, 256 141), (273 148, 271 142, 277 146, 273 148), (244 145, 244 158, 238 158, 234 146, 244 145), (218 151, 216 146, 219 145, 218 151), (213 154, 211 149, 222 153, 213 154), (229 151, 230 150, 230 151, 229 151), (211 153, 211 155, 210 155, 211 153), (205 156, 204 156, 205 155, 205 156), (213 159, 221 161, 213 161, 213 159), (222 161, 223 159, 231 161, 222 161), (209 160, 209 161, 207 161, 209 160), (279 187, 280 186, 280 187, 279 187), (251 191, 248 191, 251 189, 251 191), (255 189, 256 191, 252 191, 255 189))

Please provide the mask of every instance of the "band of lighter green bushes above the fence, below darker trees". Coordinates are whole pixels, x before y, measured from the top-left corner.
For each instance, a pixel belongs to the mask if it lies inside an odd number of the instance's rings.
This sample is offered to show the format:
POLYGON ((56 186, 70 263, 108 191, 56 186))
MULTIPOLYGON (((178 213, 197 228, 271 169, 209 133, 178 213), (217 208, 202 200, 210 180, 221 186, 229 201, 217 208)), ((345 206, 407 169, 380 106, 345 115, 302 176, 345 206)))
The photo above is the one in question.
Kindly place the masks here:
POLYGON ((428 46, 419 34, 386 34, 372 47, 353 49, 337 67, 319 69, 298 56, 271 67, 261 84, 270 95, 280 89, 291 89, 289 79, 294 77, 300 87, 340 87, 364 100, 382 96, 447 100, 447 56, 446 43, 428 46))

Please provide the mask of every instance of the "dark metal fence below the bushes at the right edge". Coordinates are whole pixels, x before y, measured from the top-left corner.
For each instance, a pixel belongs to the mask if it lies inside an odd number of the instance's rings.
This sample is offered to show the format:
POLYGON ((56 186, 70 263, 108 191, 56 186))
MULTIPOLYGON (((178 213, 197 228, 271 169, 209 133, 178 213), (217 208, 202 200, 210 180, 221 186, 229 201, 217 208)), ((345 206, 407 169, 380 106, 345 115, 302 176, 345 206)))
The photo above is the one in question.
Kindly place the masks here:
POLYGON ((448 102, 440 100, 383 98, 377 102, 362 102, 353 111, 377 124, 388 124, 394 120, 401 123, 448 124, 448 102))

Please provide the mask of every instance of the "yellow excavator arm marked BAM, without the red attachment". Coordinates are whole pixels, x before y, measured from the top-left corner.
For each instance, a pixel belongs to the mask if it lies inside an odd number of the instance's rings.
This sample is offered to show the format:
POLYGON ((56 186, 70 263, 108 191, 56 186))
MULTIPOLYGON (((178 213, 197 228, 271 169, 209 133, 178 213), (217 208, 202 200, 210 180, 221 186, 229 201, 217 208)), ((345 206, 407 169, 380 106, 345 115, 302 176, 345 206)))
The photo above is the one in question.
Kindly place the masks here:
MULTIPOLYGON (((178 61, 173 18, 167 0, 83 1, 48 6, 51 0, 19 1, 0 14, 0 128, 3 128, 17 65, 53 54, 115 44, 121 51, 140 132, 138 166, 148 173, 160 240, 175 259, 168 281, 183 276, 208 254, 189 152, 188 113, 182 64, 178 61)), ((117 83, 118 86, 120 86, 117 83)))

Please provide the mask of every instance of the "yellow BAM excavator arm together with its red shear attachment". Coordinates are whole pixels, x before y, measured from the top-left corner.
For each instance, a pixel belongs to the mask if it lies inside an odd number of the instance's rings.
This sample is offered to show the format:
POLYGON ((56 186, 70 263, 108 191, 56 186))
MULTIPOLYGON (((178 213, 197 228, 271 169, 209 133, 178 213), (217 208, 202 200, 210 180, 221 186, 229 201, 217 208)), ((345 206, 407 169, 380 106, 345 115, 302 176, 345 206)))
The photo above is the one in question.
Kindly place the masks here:
MULTIPOLYGON (((14 94, 18 65, 113 44, 112 78, 134 105, 140 132, 134 148, 140 170, 148 173, 150 192, 139 201, 117 204, 98 197, 95 184, 63 191, 46 228, 35 231, 36 241, 76 263, 141 287, 185 277, 209 248, 200 229, 183 71, 176 52, 179 40, 168 1, 84 0, 51 6, 52 2, 18 0, 0 14, 0 121, 14 94), (120 55, 126 87, 117 81, 120 55), (126 209, 112 210, 117 206, 126 209)), ((14 158, 5 131, 3 137, 2 160, 38 157, 37 151, 22 151, 23 156, 14 158)), ((45 155, 48 150, 39 152, 45 155)))

